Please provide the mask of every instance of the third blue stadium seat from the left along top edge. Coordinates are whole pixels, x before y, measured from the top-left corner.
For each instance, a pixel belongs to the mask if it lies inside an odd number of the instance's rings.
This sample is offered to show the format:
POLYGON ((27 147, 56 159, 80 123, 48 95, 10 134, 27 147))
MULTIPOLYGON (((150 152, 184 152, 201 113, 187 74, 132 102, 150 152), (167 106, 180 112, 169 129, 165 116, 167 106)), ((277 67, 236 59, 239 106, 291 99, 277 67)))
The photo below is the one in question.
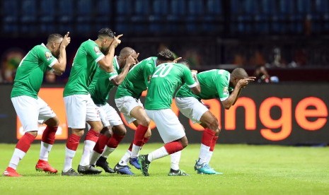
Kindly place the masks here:
POLYGON ((40 30, 41 32, 54 32, 54 18, 56 7, 54 0, 40 0, 40 30))

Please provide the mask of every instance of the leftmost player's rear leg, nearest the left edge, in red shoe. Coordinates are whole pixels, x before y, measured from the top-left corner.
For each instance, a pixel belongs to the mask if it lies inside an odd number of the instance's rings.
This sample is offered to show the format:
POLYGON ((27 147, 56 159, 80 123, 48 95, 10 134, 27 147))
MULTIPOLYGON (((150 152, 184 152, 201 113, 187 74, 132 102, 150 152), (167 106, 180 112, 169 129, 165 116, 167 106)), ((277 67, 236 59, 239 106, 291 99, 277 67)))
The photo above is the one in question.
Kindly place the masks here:
POLYGON ((16 114, 23 124, 25 134, 17 142, 15 150, 13 151, 13 156, 3 175, 8 177, 20 177, 21 175, 16 172, 16 169, 18 163, 28 152, 31 143, 33 143, 37 136, 37 117, 39 115, 39 110, 37 109, 37 100, 29 96, 22 95, 11 98, 11 102, 13 102, 16 114))

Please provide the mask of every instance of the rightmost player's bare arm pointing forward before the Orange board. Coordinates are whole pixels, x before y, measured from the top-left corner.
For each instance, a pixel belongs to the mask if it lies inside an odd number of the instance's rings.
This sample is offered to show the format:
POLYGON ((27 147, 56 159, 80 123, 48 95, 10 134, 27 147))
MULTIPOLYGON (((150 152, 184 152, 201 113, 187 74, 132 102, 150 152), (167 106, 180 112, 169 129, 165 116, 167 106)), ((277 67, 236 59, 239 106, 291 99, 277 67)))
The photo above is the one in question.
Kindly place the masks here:
POLYGON ((221 103, 224 105, 226 110, 229 110, 230 107, 235 104, 236 100, 238 100, 238 97, 241 93, 241 89, 245 88, 250 81, 254 81, 254 77, 240 79, 236 84, 236 87, 234 88, 231 95, 229 95, 229 98, 221 101, 221 103))

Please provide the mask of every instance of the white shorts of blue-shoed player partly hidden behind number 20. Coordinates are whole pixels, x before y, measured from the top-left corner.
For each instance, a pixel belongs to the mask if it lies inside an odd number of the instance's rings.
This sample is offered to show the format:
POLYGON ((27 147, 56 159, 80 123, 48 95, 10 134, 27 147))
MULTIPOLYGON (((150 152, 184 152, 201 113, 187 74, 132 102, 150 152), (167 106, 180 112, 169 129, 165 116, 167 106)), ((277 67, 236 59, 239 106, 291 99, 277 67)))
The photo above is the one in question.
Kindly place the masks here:
MULTIPOLYGON (((134 117, 131 117, 130 112, 134 107, 140 106, 143 107, 141 100, 132 98, 131 96, 125 96, 122 98, 115 99, 115 105, 117 109, 123 114, 128 124, 136 121, 134 117)), ((143 107, 144 108, 144 107, 143 107)))

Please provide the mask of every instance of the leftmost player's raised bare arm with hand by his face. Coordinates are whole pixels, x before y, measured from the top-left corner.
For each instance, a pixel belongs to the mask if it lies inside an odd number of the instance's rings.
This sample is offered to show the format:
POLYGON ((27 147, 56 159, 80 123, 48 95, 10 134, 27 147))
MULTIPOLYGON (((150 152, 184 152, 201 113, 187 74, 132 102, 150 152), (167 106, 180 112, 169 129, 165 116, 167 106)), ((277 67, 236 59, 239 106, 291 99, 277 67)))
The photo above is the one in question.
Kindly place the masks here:
POLYGON ((69 32, 64 36, 61 45, 59 46, 59 57, 57 62, 52 66, 54 73, 61 76, 65 69, 67 69, 67 45, 71 42, 71 37, 69 37, 69 32))

